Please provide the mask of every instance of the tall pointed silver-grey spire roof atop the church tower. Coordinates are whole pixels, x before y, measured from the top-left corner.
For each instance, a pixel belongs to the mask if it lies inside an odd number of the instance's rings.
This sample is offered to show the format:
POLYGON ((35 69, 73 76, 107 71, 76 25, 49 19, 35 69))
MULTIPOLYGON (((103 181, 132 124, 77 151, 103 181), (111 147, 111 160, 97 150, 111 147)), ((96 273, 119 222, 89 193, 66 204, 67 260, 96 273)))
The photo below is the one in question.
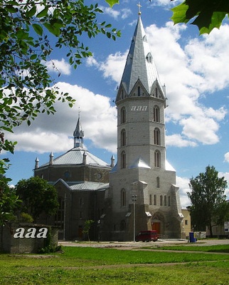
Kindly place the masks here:
POLYGON ((121 81, 127 95, 129 95, 138 79, 142 81, 148 93, 150 93, 154 81, 159 81, 159 74, 156 71, 154 59, 149 43, 147 43, 147 36, 140 16, 129 48, 129 54, 121 81))

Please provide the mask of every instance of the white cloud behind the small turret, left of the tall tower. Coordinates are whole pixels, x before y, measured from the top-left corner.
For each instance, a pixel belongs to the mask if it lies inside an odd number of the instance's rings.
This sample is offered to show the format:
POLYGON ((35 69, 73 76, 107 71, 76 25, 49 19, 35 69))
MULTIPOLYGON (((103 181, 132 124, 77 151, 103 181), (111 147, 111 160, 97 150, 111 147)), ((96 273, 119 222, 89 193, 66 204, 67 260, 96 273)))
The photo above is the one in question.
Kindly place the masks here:
POLYGON ((26 124, 15 128, 7 139, 18 142, 17 150, 31 152, 63 152, 73 147, 73 131, 80 117, 85 139, 92 145, 111 152, 117 150, 117 110, 110 98, 94 94, 85 88, 68 83, 58 83, 60 92, 69 93, 76 100, 72 109, 68 104, 55 103, 55 115, 40 114, 30 127, 26 124))

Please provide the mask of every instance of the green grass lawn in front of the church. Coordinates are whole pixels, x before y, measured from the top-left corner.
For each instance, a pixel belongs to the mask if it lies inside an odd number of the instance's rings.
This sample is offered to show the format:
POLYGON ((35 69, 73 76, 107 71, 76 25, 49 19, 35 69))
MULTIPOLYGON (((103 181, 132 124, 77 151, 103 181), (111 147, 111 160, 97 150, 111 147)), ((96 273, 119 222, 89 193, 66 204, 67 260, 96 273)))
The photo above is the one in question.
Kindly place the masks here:
POLYGON ((223 252, 229 245, 197 248, 201 252, 63 247, 63 254, 51 256, 0 254, 0 284, 228 285, 229 254, 223 252))

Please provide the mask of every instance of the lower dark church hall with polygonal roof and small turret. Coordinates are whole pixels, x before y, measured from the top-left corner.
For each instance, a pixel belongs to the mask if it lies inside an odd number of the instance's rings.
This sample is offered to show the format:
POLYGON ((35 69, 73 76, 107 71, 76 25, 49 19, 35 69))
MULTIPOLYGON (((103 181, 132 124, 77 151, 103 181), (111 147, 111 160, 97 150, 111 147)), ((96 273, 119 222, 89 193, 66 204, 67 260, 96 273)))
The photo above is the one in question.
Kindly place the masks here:
MULTIPOLYGON (((114 166, 92 155, 83 144, 84 132, 80 115, 76 125, 74 147, 63 155, 54 158, 50 154, 48 163, 38 165, 34 175, 48 180, 58 191, 60 208, 50 224, 59 227, 59 239, 82 239, 85 221, 98 221, 104 211, 105 190, 109 187, 109 172, 114 166)), ((97 238, 96 222, 92 225, 91 238, 97 238)))

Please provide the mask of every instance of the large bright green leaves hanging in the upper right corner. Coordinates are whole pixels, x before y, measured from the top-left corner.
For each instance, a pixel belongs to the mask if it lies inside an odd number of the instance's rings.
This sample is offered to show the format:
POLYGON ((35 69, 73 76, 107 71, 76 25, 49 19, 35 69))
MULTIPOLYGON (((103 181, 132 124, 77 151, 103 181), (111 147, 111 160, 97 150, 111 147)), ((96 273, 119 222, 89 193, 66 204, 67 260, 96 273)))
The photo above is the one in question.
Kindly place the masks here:
MULTIPOLYGON (((171 0, 174 1, 174 0, 171 0)), ((223 19, 229 13, 228 0, 185 0, 175 6, 171 19, 174 24, 193 21, 191 24, 198 26, 200 33, 211 33, 213 28, 220 28, 223 19)))

